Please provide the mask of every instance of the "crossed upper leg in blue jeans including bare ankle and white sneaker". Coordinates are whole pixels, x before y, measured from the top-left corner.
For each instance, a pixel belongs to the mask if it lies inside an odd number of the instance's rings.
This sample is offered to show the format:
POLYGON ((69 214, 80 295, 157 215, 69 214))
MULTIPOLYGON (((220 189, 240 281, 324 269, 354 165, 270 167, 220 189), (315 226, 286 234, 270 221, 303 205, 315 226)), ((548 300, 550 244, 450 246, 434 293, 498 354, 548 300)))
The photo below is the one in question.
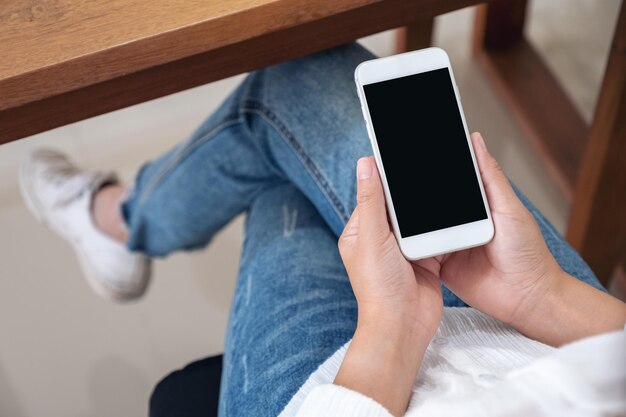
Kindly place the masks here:
MULTIPOLYGON (((69 208, 66 194, 75 191, 81 182, 77 180, 98 177, 98 173, 82 174, 65 160, 59 164, 62 155, 34 158, 26 164, 30 168, 23 170, 27 175, 22 175, 22 188, 37 197, 27 201, 43 201, 32 205, 36 207, 50 206, 44 217, 52 226, 59 223, 64 231, 68 222, 55 219, 67 214, 75 220, 72 210, 80 212, 84 221, 70 222, 77 229, 71 235, 82 236, 83 242, 83 225, 89 224, 93 235, 89 242, 95 239, 98 244, 81 243, 79 257, 96 277, 91 281, 115 284, 108 291, 115 293, 114 298, 136 298, 145 290, 149 262, 125 253, 123 246, 115 247, 118 268, 110 268, 111 254, 107 258, 103 253, 115 245, 108 237, 128 238, 128 249, 149 256, 202 247, 256 195, 278 181, 295 184, 338 236, 356 203, 356 160, 371 154, 353 72, 360 62, 373 57, 351 44, 253 73, 187 141, 143 167, 123 204, 124 221, 119 207, 124 187, 119 184, 98 192, 93 181, 82 181, 86 191, 80 194, 85 197, 80 210, 69 208), (59 178, 65 182, 59 183, 59 178), (108 229, 107 236, 97 236, 92 223, 108 229), (130 281, 133 285, 129 286, 130 281), (119 291, 126 287, 132 288, 119 291)), ((572 275, 599 285, 541 214, 532 211, 561 265, 572 275)), ((73 237, 68 239, 73 242, 73 237)), ((463 305, 447 290, 444 297, 447 305, 463 305)))

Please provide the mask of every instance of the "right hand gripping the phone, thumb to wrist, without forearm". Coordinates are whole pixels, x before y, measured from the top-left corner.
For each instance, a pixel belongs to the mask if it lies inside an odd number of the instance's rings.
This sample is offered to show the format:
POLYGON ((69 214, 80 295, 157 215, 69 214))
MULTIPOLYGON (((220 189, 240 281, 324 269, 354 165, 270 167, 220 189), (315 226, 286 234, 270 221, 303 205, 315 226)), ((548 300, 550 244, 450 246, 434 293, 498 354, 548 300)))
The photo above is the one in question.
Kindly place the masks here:
POLYGON ((439 276, 467 304, 515 324, 541 302, 562 270, 480 133, 471 139, 495 235, 486 245, 437 257, 439 276))

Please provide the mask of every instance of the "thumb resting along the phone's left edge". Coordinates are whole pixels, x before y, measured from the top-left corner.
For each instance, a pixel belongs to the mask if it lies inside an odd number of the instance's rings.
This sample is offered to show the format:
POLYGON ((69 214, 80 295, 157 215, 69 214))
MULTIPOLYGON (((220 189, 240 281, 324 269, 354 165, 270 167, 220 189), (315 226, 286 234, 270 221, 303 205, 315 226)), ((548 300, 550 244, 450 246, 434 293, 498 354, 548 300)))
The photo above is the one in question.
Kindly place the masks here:
POLYGON ((359 237, 367 242, 381 241, 389 233, 385 195, 374 158, 357 162, 357 208, 359 237))

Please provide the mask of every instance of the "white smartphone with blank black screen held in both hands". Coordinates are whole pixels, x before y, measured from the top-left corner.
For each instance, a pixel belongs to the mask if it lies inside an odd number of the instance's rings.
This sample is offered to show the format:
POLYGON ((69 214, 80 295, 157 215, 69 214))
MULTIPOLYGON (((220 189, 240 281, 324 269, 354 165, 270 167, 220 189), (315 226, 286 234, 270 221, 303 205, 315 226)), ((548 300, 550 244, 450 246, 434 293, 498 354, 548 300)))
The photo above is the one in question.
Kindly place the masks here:
POLYGON ((489 242, 493 222, 448 55, 427 48, 366 61, 355 79, 404 256, 489 242))

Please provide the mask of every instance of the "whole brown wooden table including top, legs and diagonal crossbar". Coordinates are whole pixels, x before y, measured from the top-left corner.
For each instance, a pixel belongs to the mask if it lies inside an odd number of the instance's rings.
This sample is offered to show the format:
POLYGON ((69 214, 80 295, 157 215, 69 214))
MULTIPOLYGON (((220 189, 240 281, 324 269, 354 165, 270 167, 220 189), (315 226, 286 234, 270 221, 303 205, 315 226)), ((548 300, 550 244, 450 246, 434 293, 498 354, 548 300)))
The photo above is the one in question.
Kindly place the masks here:
MULTIPOLYGON (((425 47, 435 16, 478 3, 3 0, 0 144, 391 28, 406 27, 402 48, 425 47)), ((525 10, 481 6, 476 56, 573 196, 568 238, 606 278, 626 258, 624 8, 591 130, 524 40, 525 10)))

